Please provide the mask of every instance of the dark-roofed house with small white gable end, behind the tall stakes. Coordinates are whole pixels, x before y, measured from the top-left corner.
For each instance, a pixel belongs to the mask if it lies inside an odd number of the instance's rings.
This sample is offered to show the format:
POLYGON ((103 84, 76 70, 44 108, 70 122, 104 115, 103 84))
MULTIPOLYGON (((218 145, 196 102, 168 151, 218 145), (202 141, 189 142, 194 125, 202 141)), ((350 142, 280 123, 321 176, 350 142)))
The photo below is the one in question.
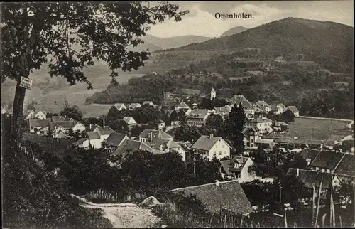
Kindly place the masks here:
POLYGON ((323 192, 327 191, 331 184, 332 187, 334 187, 339 186, 340 183, 339 177, 337 175, 327 174, 320 171, 290 168, 288 169, 287 175, 295 175, 304 183, 303 186, 310 189, 313 189, 312 186, 314 185, 316 190, 318 190, 322 181, 323 192))

